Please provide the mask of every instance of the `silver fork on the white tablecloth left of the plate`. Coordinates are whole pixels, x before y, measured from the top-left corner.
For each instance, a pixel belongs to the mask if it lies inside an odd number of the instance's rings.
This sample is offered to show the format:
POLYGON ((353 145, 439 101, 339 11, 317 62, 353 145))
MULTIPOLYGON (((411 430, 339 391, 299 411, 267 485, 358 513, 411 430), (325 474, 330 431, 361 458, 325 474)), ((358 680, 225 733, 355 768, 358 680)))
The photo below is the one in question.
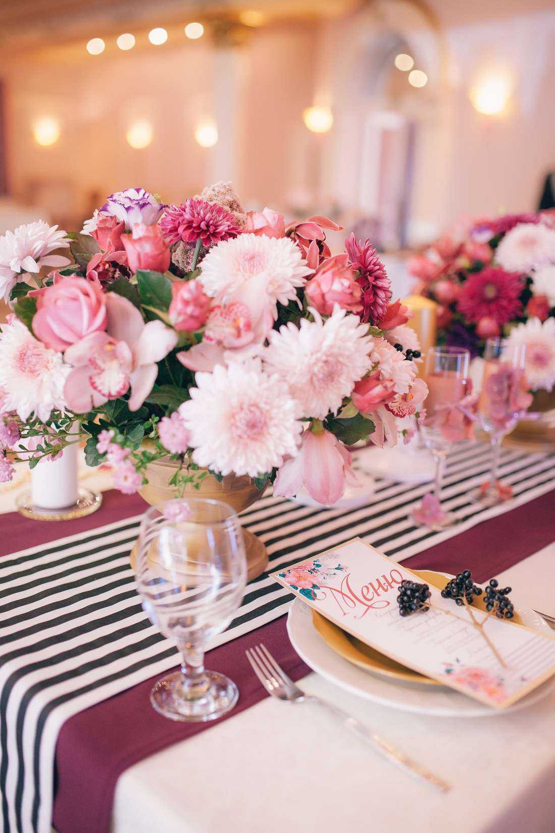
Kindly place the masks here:
POLYGON ((384 741, 383 737, 376 735, 374 731, 347 714, 346 711, 338 709, 337 706, 332 706, 331 703, 325 700, 320 700, 320 697, 306 695, 304 691, 300 690, 299 686, 295 686, 295 683, 280 668, 264 645, 248 648, 245 653, 255 675, 269 694, 290 703, 317 703, 318 706, 322 706, 335 717, 339 717, 345 728, 353 732, 361 741, 372 746, 375 751, 379 751, 392 764, 402 767, 405 772, 426 781, 426 783, 442 792, 448 792, 451 789, 451 785, 447 781, 434 776, 434 773, 424 769, 424 766, 412 761, 404 752, 395 749, 388 741, 384 741))

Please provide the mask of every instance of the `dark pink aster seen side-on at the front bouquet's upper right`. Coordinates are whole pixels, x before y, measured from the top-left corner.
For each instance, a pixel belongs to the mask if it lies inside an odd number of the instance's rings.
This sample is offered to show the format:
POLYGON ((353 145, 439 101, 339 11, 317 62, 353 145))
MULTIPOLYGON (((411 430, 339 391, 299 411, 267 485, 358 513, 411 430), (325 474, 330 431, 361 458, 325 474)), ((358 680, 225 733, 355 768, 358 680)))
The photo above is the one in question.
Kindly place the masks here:
POLYGON ((381 321, 385 317, 391 298, 391 281, 385 273, 378 252, 368 238, 363 243, 354 237, 354 233, 345 240, 345 251, 349 257, 349 265, 359 272, 356 282, 362 289, 364 305, 360 320, 372 324, 381 321))

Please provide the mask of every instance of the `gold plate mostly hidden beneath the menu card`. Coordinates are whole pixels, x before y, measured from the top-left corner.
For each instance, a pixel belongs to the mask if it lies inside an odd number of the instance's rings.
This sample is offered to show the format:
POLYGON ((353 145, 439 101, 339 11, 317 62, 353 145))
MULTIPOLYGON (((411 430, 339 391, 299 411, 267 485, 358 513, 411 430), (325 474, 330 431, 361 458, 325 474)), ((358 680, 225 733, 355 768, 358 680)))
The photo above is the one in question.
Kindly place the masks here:
MULTIPOLYGON (((433 585, 439 590, 443 590, 447 581, 453 578, 453 576, 429 570, 414 570, 414 574, 419 576, 426 584, 433 585)), ((485 611, 486 606, 483 602, 483 596, 474 598, 473 607, 485 611)), ((347 631, 334 625, 333 622, 330 622, 329 619, 315 610, 312 611, 312 622, 316 631, 332 651, 335 651, 339 656, 343 656, 345 660, 352 662, 353 665, 363 668, 364 671, 371 671, 372 674, 389 677, 389 679, 393 678, 399 682, 412 683, 413 685, 417 683, 420 686, 441 686, 438 681, 400 665, 399 662, 389 659, 389 656, 380 654, 379 651, 366 645, 355 636, 351 636, 347 631)), ((522 625, 520 616, 516 612, 513 622, 522 625)))

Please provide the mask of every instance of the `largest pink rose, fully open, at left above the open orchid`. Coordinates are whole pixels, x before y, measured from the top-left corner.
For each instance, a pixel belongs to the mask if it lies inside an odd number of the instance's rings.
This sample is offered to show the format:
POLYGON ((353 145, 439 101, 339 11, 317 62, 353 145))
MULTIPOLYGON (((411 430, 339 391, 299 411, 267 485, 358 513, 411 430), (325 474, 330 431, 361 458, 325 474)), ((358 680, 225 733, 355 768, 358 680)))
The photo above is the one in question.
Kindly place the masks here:
POLYGON ((106 296, 97 282, 64 277, 37 297, 32 332, 52 350, 64 351, 106 326, 106 296))

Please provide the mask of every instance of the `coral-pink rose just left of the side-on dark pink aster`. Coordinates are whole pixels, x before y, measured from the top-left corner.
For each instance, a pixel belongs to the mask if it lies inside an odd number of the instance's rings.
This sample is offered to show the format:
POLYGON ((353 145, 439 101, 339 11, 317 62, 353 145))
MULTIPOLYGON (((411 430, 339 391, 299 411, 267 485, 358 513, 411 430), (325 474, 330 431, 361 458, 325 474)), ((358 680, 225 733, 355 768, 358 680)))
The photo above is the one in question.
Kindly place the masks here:
POLYGON ((347 260, 346 254, 329 257, 305 286, 310 305, 322 315, 331 315, 335 304, 348 312, 362 312, 362 289, 354 280, 354 270, 347 265, 347 260))

